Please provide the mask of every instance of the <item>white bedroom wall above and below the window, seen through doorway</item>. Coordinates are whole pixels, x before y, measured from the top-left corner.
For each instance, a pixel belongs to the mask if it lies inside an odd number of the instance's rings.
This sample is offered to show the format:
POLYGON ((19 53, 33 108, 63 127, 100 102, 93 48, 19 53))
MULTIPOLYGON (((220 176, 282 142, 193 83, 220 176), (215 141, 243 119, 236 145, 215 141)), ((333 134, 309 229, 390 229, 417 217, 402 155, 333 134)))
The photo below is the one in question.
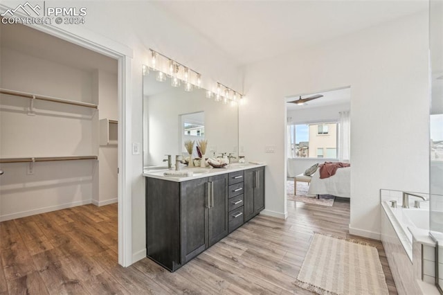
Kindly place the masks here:
MULTIPOLYGON (((289 124, 315 123, 329 120, 338 120, 339 111, 348 111, 350 104, 328 105, 309 109, 288 110, 289 124)), ((323 163, 325 159, 287 159, 287 177, 299 175, 315 163, 323 163)))

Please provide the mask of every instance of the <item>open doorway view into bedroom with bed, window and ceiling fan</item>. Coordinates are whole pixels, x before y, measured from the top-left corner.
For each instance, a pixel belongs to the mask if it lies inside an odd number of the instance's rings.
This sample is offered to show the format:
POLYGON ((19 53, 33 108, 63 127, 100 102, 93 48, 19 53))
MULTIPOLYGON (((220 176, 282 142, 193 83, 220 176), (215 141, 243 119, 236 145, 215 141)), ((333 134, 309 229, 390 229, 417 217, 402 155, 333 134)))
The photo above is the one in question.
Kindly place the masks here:
POLYGON ((285 98, 287 200, 295 201, 288 206, 334 206, 334 200, 343 198, 349 210, 350 168, 343 166, 350 165, 350 90, 285 98), (325 162, 334 163, 325 167, 334 175, 320 179, 325 162))

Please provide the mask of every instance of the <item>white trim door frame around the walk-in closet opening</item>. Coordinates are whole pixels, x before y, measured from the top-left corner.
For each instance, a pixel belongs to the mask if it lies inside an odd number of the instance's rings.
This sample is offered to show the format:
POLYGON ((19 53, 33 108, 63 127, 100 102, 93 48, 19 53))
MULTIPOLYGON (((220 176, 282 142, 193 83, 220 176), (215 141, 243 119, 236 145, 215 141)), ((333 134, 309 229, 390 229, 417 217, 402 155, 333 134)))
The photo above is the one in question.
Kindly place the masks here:
MULTIPOLYGON (((10 8, 0 3, 1 11, 10 8)), ((18 11, 15 14, 20 15, 18 11)), ((118 264, 128 267, 132 265, 132 163, 129 160, 132 154, 130 118, 133 50, 80 26, 71 26, 69 30, 50 24, 34 24, 29 27, 118 60, 118 264)))

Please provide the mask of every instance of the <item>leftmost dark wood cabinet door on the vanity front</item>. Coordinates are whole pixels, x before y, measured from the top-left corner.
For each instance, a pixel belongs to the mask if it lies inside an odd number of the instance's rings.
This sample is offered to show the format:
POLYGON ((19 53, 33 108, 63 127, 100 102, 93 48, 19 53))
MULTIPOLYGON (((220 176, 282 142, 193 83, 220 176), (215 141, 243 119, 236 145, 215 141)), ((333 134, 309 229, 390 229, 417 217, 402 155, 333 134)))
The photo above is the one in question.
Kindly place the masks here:
POLYGON ((199 255, 208 246, 208 197, 208 178, 181 183, 182 264, 199 255))

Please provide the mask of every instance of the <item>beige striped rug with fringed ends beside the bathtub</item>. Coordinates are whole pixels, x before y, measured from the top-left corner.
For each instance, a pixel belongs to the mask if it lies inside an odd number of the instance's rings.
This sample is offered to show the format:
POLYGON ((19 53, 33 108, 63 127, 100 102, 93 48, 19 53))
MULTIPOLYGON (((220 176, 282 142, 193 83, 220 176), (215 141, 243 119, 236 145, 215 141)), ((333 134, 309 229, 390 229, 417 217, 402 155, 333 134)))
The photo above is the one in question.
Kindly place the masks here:
POLYGON ((389 294, 375 247, 320 233, 293 284, 317 294, 389 294))

